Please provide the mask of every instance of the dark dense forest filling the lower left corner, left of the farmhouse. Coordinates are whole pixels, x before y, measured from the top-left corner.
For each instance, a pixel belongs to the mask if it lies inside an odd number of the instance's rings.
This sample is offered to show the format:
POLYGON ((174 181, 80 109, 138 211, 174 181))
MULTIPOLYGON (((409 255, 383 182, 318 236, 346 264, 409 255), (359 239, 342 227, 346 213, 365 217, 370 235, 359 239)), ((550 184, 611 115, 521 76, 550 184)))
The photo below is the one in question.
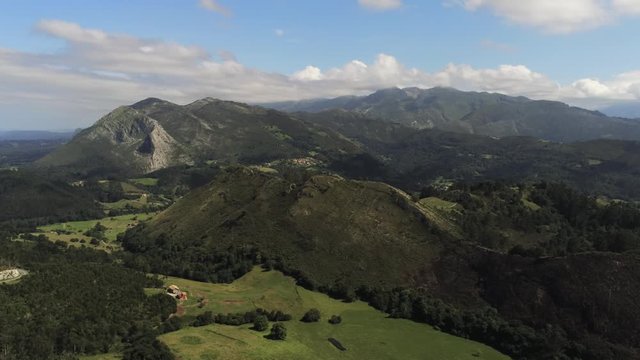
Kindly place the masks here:
POLYGON ((44 239, 10 241, 10 232, 3 234, 2 264, 30 274, 0 285, 0 359, 73 359, 114 350, 125 359, 173 358, 155 336, 176 303, 143 291, 161 286, 157 278, 118 265, 104 252, 44 239))

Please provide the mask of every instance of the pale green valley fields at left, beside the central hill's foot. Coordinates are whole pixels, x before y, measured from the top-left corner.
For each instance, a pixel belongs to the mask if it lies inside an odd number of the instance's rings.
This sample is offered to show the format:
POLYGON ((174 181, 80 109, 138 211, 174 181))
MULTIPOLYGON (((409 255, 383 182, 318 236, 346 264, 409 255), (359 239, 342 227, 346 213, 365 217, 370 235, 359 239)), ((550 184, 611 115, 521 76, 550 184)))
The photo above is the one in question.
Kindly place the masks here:
MULTIPOLYGON (((50 241, 64 241, 72 246, 80 246, 80 242, 72 242, 71 239, 84 240, 85 245, 89 244, 90 237, 84 235, 84 232, 93 228, 98 222, 107 227, 105 236, 106 242, 103 242, 97 248, 103 250, 110 250, 109 247, 114 247, 116 244, 114 241, 118 234, 125 232, 129 227, 136 225, 140 221, 150 219, 154 213, 141 213, 141 214, 129 214, 115 217, 106 217, 100 220, 87 220, 87 221, 71 221, 66 223, 52 224, 41 226, 38 230, 49 238, 50 241), (58 233, 57 231, 64 231, 65 233, 58 233)), ((38 234, 36 234, 38 235, 38 234)))

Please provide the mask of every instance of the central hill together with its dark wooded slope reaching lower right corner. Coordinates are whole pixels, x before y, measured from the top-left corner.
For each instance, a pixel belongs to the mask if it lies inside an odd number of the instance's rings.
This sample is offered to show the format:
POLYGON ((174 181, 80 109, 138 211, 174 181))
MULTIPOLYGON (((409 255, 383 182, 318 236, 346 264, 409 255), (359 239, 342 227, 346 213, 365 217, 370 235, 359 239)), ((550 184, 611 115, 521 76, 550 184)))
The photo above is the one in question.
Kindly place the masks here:
POLYGON ((637 206, 554 184, 460 185, 420 199, 298 175, 226 170, 129 231, 128 263, 212 281, 230 281, 222 264, 238 264, 232 279, 263 263, 516 358, 637 356, 639 239, 623 235, 638 231, 637 206))

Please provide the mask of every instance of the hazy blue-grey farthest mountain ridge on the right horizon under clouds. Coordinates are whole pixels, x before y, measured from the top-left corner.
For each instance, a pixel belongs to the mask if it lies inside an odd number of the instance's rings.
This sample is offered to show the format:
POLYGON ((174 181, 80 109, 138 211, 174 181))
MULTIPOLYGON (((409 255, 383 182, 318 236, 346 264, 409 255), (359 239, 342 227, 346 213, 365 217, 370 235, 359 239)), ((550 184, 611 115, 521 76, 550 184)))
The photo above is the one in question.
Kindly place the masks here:
POLYGON ((264 104, 288 112, 342 109, 418 129, 440 129, 493 137, 533 136, 572 142, 640 140, 640 123, 571 107, 495 93, 451 88, 385 89, 368 96, 264 104))

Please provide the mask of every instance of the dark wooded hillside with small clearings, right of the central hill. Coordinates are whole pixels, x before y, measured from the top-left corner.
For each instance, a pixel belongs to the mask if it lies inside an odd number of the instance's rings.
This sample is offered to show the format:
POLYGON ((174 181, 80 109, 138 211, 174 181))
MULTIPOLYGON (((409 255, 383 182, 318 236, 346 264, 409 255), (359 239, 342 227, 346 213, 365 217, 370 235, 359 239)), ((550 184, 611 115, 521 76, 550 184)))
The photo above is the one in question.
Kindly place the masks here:
POLYGON ((465 239, 495 250, 541 257, 640 249, 640 206, 601 202, 560 183, 460 184, 421 195, 460 204, 465 239))

